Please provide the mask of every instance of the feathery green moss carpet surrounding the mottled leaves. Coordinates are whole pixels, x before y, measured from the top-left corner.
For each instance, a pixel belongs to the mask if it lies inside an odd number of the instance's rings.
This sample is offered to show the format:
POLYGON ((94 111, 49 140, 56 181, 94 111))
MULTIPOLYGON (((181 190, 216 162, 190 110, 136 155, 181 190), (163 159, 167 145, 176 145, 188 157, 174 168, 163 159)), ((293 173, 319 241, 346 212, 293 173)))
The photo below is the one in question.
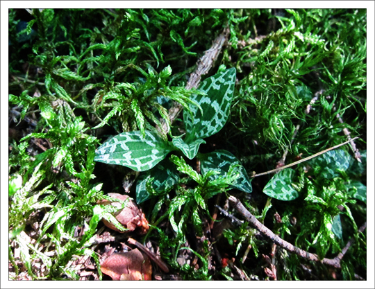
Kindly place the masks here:
MULTIPOLYGON (((78 279, 67 267, 74 256, 92 256, 99 268, 92 236, 110 209, 99 209, 97 201, 122 188, 122 178, 131 174, 95 163, 95 149, 120 132, 144 134, 168 121, 171 100, 188 109, 197 93, 184 88, 190 73, 226 27, 228 43, 202 80, 217 73, 220 64, 234 67, 234 98, 228 122, 205 139, 201 153, 228 150, 251 175, 274 169, 286 149, 285 164, 290 164, 299 155, 347 141, 347 128, 351 137, 360 137, 356 146, 365 163, 364 9, 33 9, 26 16, 23 11, 9 10, 9 229, 33 279, 38 278, 31 265, 35 259, 47 266, 46 279, 78 279), (22 189, 15 189, 19 176, 22 189), (33 218, 41 227, 31 245, 21 232, 31 230, 33 218), (78 238, 76 227, 87 230, 78 238), (47 244, 56 256, 37 249, 47 244)), ((174 135, 183 133, 180 119, 170 126, 174 135)), ((319 161, 309 163, 312 169, 304 163, 293 168, 290 186, 299 193, 296 200, 268 200, 263 189, 270 175, 254 178, 251 198, 240 198, 250 211, 263 211, 258 217, 272 231, 319 256, 332 258, 354 236, 342 271, 336 272, 337 279, 350 280, 356 274, 366 278, 366 234, 356 231, 366 220, 367 183, 365 166, 357 164, 350 146, 342 150, 349 167, 338 168, 333 177, 319 170, 319 161)), ((186 249, 199 259, 197 271, 176 259, 191 236, 204 235, 201 228, 213 211, 211 197, 220 191, 240 194, 228 191, 235 168, 231 175, 204 179, 193 169, 194 160, 178 159, 173 159, 180 169, 178 182, 144 202, 144 213, 157 220, 147 238, 158 241, 173 274, 231 279, 237 274, 233 268, 218 270, 215 260, 217 270, 208 265, 215 254, 212 244, 186 249)), ((151 184, 144 187, 152 191, 151 184)), ((135 198, 135 189, 130 195, 135 198)), ((242 256, 249 244, 253 248, 252 263, 235 257, 238 268, 253 279, 268 278, 259 268, 264 265, 261 254, 270 252, 269 241, 256 238, 246 225, 224 236, 233 242, 227 247, 229 257, 242 256)), ((14 261, 12 251, 10 256, 14 261)), ((278 279, 333 279, 324 265, 283 250, 275 258, 278 279)))

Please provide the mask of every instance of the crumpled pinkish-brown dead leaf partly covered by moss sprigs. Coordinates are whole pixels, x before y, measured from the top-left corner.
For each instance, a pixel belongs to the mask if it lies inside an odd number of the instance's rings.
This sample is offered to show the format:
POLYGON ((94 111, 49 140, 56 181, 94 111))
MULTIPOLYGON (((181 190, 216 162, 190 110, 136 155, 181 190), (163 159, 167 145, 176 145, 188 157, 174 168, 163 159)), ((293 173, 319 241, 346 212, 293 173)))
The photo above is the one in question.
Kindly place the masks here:
MULTIPOLYGON (((122 202, 129 198, 128 195, 121 195, 119 193, 108 193, 108 195, 122 202)), ((121 204, 119 202, 110 202, 108 200, 101 200, 99 201, 99 204, 111 204, 115 207, 121 207, 121 204)), ((137 204, 133 200, 128 200, 128 202, 126 203, 126 207, 124 207, 124 209, 122 210, 113 213, 113 216, 115 216, 115 218, 124 227, 126 227, 126 229, 128 229, 127 231, 134 231, 135 229, 138 229, 138 232, 140 234, 146 234, 149 230, 149 222, 147 222, 144 213, 142 213, 142 211, 138 208, 137 204)), ((107 220, 103 219, 103 223, 108 228, 113 229, 115 231, 119 231, 119 229, 117 229, 113 224, 111 224, 107 220)))

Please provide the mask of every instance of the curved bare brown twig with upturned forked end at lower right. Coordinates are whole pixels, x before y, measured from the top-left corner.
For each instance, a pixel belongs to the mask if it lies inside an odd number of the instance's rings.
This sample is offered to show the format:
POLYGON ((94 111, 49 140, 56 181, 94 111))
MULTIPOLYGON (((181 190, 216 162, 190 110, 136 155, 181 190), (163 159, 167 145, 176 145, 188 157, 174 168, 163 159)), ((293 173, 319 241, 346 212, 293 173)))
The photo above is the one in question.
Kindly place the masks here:
MULTIPOLYGON (((245 220, 247 220, 247 222, 249 222, 251 225, 253 225, 253 227, 258 229, 258 231, 260 231, 263 235, 267 236, 267 238, 272 240, 272 242, 274 242, 276 245, 278 245, 280 247, 283 247, 284 249, 288 250, 289 252, 297 254, 298 256, 301 256, 301 257, 303 257, 305 259, 308 259, 310 261, 321 262, 323 264, 331 265, 334 268, 340 269, 341 268, 340 261, 342 260, 342 258, 344 257, 344 254, 347 253, 347 250, 349 249, 349 247, 353 243, 353 239, 349 240, 349 242, 344 247, 344 249, 342 249, 342 252, 340 254, 338 254, 338 256, 336 256, 334 259, 324 258, 324 259, 320 260, 319 257, 317 256, 317 254, 312 254, 312 253, 306 252, 305 250, 300 249, 299 247, 295 247, 294 245, 288 243, 287 241, 283 240, 279 236, 275 235, 270 229, 268 229, 267 227, 265 227, 265 225, 263 225, 261 222, 259 222, 256 219, 256 217, 253 216, 244 207, 242 202, 240 202, 240 200, 238 200, 237 198, 235 198, 231 195, 228 198, 228 200, 229 200, 229 202, 231 202, 231 205, 233 206, 233 208, 236 211, 238 211, 238 213, 240 213, 245 218, 245 220)), ((228 216, 229 218, 234 220, 236 223, 242 224, 242 221, 238 220, 237 218, 232 216, 227 211, 224 211, 220 207, 218 207, 218 208, 220 209, 220 211, 222 211, 226 216, 228 216)), ((363 231, 365 231, 365 229, 366 229, 366 223, 364 225, 362 225, 358 231, 363 232, 363 231)))

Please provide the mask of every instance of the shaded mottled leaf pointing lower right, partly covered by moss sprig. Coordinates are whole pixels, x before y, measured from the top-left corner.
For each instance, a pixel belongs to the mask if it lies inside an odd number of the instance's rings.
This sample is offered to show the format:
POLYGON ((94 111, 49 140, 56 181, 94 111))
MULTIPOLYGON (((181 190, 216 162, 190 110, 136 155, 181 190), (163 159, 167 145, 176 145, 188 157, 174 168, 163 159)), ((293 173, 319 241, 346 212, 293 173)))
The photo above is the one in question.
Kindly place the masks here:
MULTIPOLYGON (((231 152, 215 150, 215 152, 199 155, 199 159, 201 159, 201 172, 205 175, 212 170, 217 170, 219 175, 226 175, 231 164, 240 165, 240 169, 238 170, 240 177, 232 184, 232 187, 246 193, 251 193, 251 191, 253 191, 246 170, 231 152)), ((219 175, 212 175, 210 179, 217 179, 219 175)))

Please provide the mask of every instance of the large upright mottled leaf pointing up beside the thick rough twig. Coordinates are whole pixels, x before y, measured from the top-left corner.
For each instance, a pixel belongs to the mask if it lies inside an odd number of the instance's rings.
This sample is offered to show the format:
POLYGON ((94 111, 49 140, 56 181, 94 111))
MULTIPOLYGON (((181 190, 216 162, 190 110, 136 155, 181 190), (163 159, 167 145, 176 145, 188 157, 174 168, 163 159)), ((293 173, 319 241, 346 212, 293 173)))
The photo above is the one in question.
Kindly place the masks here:
POLYGON ((192 100, 199 107, 190 105, 190 112, 183 111, 186 129, 186 143, 195 139, 210 137, 219 132, 226 123, 231 110, 235 85, 235 68, 227 69, 204 80, 199 87, 206 96, 194 94, 192 100))

